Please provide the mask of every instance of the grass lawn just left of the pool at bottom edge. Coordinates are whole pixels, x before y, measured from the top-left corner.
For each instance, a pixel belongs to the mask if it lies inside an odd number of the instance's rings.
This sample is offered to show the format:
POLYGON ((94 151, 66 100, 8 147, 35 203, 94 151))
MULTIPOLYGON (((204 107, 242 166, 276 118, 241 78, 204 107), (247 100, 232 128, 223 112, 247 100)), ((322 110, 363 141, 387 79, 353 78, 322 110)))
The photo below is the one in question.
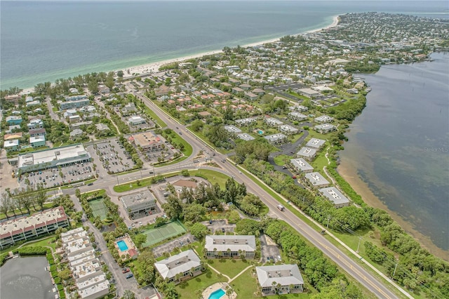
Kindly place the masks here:
MULTIPOLYGON (((198 294, 195 293, 196 290, 203 291, 208 286, 215 284, 216 282, 225 282, 227 281, 226 277, 222 277, 219 279, 218 274, 213 270, 207 269, 203 274, 189 279, 182 284, 178 284, 176 286, 177 293, 180 294, 180 299, 197 299, 198 294)), ((245 298, 245 297, 241 297, 245 298)))

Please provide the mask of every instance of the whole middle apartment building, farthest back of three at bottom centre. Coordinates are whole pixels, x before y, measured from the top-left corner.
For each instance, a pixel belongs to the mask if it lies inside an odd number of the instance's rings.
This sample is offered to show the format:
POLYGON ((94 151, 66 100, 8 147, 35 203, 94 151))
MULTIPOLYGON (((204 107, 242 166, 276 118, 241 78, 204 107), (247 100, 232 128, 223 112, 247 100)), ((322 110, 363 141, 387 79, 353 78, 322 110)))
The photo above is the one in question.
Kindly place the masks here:
POLYGON ((204 252, 206 258, 254 258, 256 251, 253 235, 206 236, 204 252))

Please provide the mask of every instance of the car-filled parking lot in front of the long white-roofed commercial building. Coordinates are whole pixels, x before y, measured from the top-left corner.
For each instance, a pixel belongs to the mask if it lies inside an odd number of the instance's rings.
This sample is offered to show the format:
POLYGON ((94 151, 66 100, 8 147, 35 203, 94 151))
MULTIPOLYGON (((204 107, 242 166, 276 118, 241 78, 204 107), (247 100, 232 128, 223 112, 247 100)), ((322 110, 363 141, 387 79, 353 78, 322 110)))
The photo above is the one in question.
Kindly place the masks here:
POLYGON ((20 187, 26 187, 28 180, 29 186, 36 188, 36 186, 43 188, 59 187, 62 185, 73 184, 74 182, 81 182, 95 178, 95 171, 93 171, 93 162, 84 162, 72 164, 60 168, 51 168, 41 171, 32 171, 22 175, 20 180, 20 187))

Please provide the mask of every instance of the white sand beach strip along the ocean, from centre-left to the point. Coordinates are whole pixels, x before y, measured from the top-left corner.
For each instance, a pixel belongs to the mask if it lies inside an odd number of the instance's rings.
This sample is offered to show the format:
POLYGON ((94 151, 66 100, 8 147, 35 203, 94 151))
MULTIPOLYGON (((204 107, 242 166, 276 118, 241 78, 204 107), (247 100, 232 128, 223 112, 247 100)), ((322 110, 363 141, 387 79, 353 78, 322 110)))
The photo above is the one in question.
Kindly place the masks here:
MULTIPOLYGON (((329 29, 331 27, 335 27, 338 24, 338 15, 335 15, 333 17, 333 22, 332 24, 323 27, 323 28, 319 28, 319 29, 314 29, 314 30, 309 30, 307 32, 304 33, 314 33, 314 32, 320 32, 321 30, 326 30, 329 29)), ((296 34, 299 35, 299 34, 296 34)), ((253 44, 246 44, 243 45, 243 48, 246 47, 253 47, 253 46, 260 46, 263 44, 269 44, 269 43, 273 43, 275 41, 279 41, 280 38, 276 38, 276 39, 268 39, 266 41, 257 41, 256 43, 253 44)), ((222 50, 216 50, 216 51, 209 51, 209 52, 204 52, 204 53, 199 53, 199 54, 195 54, 195 55, 189 55, 189 56, 184 56, 181 58, 173 58, 173 59, 169 59, 169 60, 163 60, 163 61, 159 61, 159 62, 153 62, 153 63, 149 63, 146 65, 138 65, 135 67, 127 67, 126 69, 121 69, 121 71, 123 71, 123 78, 129 78, 129 77, 133 77, 133 74, 151 74, 151 73, 155 73, 155 72, 159 72, 159 67, 161 67, 162 65, 168 65, 170 63, 173 62, 182 62, 185 60, 189 60, 189 59, 194 59, 194 58, 200 58, 206 55, 214 55, 217 53, 222 53, 222 50)), ((116 72, 118 72, 119 69, 117 69, 116 72)))

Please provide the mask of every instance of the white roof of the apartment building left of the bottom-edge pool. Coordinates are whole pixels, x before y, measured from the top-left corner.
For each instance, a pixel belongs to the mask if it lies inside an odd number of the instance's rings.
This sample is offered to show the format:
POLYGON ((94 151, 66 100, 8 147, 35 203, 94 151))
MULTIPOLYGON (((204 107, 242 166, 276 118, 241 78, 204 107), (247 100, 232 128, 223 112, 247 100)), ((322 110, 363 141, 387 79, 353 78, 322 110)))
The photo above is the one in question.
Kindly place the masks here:
POLYGON ((170 258, 154 263, 154 267, 161 274, 163 279, 175 277, 178 273, 184 273, 201 265, 198 255, 192 250, 183 251, 170 258))

